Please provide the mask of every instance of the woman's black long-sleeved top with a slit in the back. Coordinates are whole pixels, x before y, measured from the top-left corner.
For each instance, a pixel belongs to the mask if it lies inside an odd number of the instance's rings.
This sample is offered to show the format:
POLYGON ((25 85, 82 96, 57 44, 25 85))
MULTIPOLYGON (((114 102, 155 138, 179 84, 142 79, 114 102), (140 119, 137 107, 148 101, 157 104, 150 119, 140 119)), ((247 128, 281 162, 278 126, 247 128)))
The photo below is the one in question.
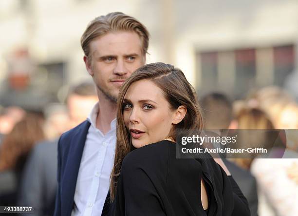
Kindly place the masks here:
POLYGON ((168 140, 133 150, 123 160, 110 216, 204 216, 202 177, 210 188, 208 216, 250 216, 233 177, 207 157, 176 159, 168 140))

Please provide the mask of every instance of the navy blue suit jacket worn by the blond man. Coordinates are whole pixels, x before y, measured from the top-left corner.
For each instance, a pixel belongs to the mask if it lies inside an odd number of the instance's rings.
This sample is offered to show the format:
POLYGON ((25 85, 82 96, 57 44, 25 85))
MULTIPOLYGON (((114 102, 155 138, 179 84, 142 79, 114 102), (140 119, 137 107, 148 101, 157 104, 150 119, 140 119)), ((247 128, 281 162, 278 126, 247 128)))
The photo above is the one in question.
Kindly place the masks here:
MULTIPOLYGON (((58 185, 54 216, 71 216, 77 175, 89 127, 90 122, 86 120, 64 133, 58 141, 58 185)), ((108 194, 102 216, 109 213, 109 197, 108 194)))

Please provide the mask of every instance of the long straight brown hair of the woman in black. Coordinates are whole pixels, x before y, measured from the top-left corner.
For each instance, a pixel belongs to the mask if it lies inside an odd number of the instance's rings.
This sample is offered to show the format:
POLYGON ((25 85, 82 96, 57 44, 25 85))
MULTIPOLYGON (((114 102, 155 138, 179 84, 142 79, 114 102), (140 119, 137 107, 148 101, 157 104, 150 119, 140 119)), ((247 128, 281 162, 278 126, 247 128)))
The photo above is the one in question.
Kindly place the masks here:
POLYGON ((146 64, 137 69, 130 78, 123 83, 117 99, 117 138, 110 185, 112 200, 116 195, 117 181, 120 175, 122 161, 124 157, 134 149, 130 140, 130 132, 125 127, 123 119, 123 99, 130 85, 143 79, 152 81, 163 91, 170 109, 175 110, 181 105, 186 107, 186 116, 180 123, 172 126, 169 137, 176 140, 178 130, 200 132, 203 127, 197 94, 180 69, 161 62, 146 64))

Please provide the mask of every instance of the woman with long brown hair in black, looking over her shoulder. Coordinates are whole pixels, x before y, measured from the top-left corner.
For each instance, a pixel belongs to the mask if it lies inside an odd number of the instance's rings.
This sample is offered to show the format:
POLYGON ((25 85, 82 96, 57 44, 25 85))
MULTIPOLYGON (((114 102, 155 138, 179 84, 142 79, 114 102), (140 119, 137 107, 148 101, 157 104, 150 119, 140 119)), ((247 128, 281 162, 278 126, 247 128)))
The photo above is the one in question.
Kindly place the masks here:
POLYGON ((197 95, 180 69, 136 70, 117 100, 110 215, 250 215, 221 159, 176 158, 177 131, 201 129, 197 95))

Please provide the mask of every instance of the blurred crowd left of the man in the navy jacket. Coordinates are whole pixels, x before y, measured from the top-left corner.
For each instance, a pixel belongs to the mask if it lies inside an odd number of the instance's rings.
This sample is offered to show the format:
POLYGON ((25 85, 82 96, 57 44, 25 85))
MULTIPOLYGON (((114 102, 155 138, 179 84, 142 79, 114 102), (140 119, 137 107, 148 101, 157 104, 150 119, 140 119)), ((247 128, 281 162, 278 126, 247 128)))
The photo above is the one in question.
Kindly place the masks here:
POLYGON ((35 207, 35 215, 53 215, 59 136, 86 120, 97 102, 92 82, 70 89, 65 105, 43 112, 20 107, 0 110, 0 205, 35 207))

